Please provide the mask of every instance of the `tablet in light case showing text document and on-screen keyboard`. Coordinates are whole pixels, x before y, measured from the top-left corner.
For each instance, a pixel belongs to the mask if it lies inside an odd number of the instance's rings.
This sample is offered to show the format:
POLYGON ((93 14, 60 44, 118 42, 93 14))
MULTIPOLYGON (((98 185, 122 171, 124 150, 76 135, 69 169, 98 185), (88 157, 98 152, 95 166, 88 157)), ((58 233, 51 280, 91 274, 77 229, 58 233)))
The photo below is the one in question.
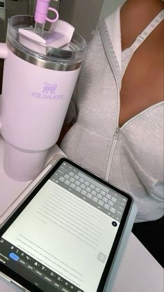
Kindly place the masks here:
POLYGON ((61 158, 0 229, 0 275, 26 291, 110 291, 136 217, 129 194, 61 158))

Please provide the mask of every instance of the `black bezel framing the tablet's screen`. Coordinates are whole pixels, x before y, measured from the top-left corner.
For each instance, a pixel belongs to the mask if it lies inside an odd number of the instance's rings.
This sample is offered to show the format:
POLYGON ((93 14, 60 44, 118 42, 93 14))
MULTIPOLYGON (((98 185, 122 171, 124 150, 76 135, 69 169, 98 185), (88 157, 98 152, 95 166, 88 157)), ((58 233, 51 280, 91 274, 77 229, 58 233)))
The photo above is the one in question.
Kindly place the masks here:
MULTIPOLYGON (((106 180, 104 180, 102 178, 99 178, 98 176, 96 176, 92 172, 88 171, 88 169, 84 169, 83 167, 81 167, 79 164, 76 164, 72 160, 69 160, 66 157, 60 158, 60 160, 49 171, 49 173, 46 176, 44 176, 44 178, 42 178, 40 183, 29 194, 29 196, 21 204, 21 206, 19 206, 19 208, 17 208, 17 210, 15 210, 15 213, 13 213, 13 215, 11 215, 11 217, 8 219, 8 221, 1 227, 1 229, 0 229, 0 238, 1 238, 1 236, 3 236, 3 233, 5 233, 5 231, 9 228, 9 226, 15 221, 15 219, 19 216, 19 214, 22 213, 22 210, 24 210, 24 208, 26 208, 26 206, 33 199, 33 197, 35 197, 35 194, 38 193, 38 191, 47 182, 47 180, 49 180, 49 178, 54 174, 54 171, 56 171, 56 169, 58 169, 58 167, 60 167, 60 164, 62 164, 63 162, 68 162, 69 164, 72 164, 73 167, 77 167, 79 170, 85 172, 85 174, 88 174, 92 178, 95 178, 100 183, 103 183, 104 185, 106 185, 106 186, 110 187, 111 189, 115 190, 116 192, 119 192, 120 194, 122 194, 124 197, 126 197, 128 199, 127 203, 126 203, 125 210, 124 210, 124 214, 122 215, 122 220, 120 222, 119 229, 117 230, 117 234, 115 236, 113 247, 110 250, 110 254, 108 256, 108 260, 106 262, 106 266, 104 268, 104 272, 101 275, 101 279, 100 279, 99 286, 98 286, 98 289, 97 289, 97 292, 101 292, 104 289, 104 285, 105 285, 106 279, 108 277, 108 272, 110 271, 111 265, 113 263, 113 258, 115 256, 115 252, 117 251, 117 247, 118 247, 118 245, 120 243, 120 238, 121 238, 121 235, 122 235, 122 231, 123 231, 124 226, 126 224, 126 220, 127 220, 128 216, 129 216, 129 211, 131 210, 131 206, 133 204, 133 199, 126 192, 124 192, 124 191, 122 191, 120 189, 117 189, 117 187, 115 187, 113 185, 110 185, 110 183, 108 183, 108 181, 106 181, 106 180)), ((14 272, 10 268, 8 268, 5 265, 3 265, 3 263, 0 263, 0 271, 3 274, 5 274, 6 276, 8 276, 10 279, 13 279, 15 282, 17 282, 18 284, 22 285, 25 289, 28 289, 29 291, 36 291, 36 292, 41 292, 42 291, 41 289, 38 289, 34 284, 31 284, 31 282, 28 282, 28 280, 25 279, 24 277, 18 275, 16 272, 14 272)))

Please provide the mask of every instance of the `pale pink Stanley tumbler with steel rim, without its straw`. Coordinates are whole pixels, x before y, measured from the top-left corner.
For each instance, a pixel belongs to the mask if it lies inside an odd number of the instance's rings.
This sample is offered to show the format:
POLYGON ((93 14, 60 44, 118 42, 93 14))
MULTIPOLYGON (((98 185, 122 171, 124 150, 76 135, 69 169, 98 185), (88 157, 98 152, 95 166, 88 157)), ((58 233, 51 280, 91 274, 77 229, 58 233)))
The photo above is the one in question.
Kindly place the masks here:
MULTIPOLYGON (((10 17, 6 44, 0 44, 0 58, 4 59, 0 105, 4 169, 16 180, 35 178, 49 148, 56 144, 86 47, 76 31, 71 42, 60 48, 20 32, 33 31, 34 26, 34 17, 10 17)), ((55 38, 59 36, 56 33, 55 38)))

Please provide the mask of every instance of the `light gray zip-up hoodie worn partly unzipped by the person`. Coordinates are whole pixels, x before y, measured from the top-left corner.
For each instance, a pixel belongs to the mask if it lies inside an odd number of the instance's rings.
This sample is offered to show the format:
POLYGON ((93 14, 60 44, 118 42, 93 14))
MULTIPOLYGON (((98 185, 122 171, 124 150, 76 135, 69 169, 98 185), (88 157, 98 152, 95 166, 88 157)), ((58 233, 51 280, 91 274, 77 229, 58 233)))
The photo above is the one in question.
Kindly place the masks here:
POLYGON ((163 102, 119 128, 121 83, 118 8, 99 22, 88 45, 76 95, 67 112, 67 121, 75 123, 61 149, 75 162, 129 192, 138 206, 136 222, 156 220, 163 215, 163 102))

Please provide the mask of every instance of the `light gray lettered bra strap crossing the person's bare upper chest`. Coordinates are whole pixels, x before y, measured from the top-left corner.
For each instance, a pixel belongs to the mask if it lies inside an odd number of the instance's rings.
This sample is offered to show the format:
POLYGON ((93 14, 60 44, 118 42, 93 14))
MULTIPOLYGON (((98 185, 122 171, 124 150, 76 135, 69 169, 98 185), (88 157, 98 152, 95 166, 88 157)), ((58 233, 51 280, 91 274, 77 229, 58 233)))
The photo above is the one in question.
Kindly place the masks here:
POLYGON ((147 36, 149 36, 151 31, 153 31, 156 28, 156 26, 158 26, 158 24, 160 24, 163 21, 163 19, 164 19, 164 9, 161 10, 161 12, 158 13, 158 15, 156 15, 154 20, 152 20, 148 24, 148 26, 145 28, 145 30, 142 31, 142 33, 140 33, 140 35, 136 38, 133 45, 131 45, 131 49, 133 52, 135 52, 136 49, 138 49, 140 44, 144 42, 144 40, 147 38, 147 36))

